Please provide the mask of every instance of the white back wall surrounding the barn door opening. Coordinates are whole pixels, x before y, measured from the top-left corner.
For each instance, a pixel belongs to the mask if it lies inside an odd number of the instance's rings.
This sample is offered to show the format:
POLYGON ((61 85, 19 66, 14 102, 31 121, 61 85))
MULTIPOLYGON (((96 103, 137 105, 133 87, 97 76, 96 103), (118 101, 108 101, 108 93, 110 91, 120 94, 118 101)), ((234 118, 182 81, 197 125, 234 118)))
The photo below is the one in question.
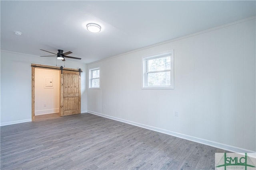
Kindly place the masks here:
MULTIPOLYGON (((56 66, 48 57, 1 51, 1 125, 31 121, 31 64, 56 66)), ((64 66, 58 61, 57 66, 64 66)), ((86 64, 66 61, 66 68, 81 68, 81 113, 86 108, 86 64)))

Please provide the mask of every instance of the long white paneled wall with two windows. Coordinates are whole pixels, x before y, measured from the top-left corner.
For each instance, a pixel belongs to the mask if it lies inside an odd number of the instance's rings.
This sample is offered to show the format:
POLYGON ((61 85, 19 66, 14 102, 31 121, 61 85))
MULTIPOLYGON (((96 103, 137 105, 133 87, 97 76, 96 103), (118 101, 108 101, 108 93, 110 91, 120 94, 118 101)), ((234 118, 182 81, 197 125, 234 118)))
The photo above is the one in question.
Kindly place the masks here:
POLYGON ((255 152, 255 30, 253 18, 88 64, 88 69, 101 68, 101 89, 88 89, 88 112, 214 147, 255 152), (174 90, 142 90, 142 57, 170 49, 174 90))

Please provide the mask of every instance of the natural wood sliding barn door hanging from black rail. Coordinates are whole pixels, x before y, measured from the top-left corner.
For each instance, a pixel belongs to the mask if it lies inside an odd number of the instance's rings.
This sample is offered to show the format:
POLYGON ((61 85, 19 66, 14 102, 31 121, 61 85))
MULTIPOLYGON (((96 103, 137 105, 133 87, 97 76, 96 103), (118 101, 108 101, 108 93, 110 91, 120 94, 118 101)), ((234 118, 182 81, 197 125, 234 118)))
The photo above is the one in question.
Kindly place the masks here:
POLYGON ((81 113, 81 88, 79 72, 65 71, 60 74, 60 116, 81 113))

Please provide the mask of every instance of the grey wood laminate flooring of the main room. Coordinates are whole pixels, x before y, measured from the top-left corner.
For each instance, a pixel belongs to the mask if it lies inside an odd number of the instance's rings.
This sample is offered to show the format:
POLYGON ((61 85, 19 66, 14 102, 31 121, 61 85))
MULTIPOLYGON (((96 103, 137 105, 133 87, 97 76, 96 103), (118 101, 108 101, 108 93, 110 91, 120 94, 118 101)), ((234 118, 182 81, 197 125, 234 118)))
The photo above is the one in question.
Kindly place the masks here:
POLYGON ((207 145, 89 113, 1 127, 1 170, 214 169, 207 145))

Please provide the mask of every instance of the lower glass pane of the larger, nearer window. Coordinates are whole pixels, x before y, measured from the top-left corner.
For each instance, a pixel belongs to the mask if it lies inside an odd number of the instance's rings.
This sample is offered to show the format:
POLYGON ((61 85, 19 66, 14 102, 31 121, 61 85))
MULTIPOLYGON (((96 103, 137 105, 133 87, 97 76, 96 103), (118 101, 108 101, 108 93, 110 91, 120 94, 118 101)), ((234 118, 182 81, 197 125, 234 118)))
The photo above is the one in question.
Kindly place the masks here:
POLYGON ((148 73, 148 86, 170 86, 170 71, 148 73))

